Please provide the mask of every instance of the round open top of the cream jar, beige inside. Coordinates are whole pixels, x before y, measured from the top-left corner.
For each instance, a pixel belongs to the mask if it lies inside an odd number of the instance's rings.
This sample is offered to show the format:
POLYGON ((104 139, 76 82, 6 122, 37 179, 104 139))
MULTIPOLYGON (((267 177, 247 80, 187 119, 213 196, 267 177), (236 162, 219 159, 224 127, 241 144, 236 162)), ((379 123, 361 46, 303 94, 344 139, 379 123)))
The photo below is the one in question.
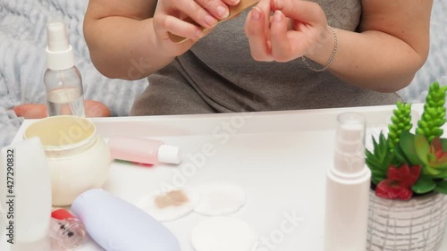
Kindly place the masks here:
POLYGON ((64 151, 89 145, 95 136, 96 126, 89 119, 61 115, 34 122, 23 138, 38 137, 46 151, 64 151))

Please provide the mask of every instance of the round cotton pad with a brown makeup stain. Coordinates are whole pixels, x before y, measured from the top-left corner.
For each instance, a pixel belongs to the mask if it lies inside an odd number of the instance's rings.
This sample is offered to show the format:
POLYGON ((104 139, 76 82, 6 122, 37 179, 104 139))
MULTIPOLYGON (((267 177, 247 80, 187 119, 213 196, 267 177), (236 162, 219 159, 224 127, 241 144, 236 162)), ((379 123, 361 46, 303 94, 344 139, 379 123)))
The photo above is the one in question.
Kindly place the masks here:
POLYGON ((159 222, 171 222, 190 213, 200 200, 194 189, 156 191, 139 200, 137 206, 159 222))

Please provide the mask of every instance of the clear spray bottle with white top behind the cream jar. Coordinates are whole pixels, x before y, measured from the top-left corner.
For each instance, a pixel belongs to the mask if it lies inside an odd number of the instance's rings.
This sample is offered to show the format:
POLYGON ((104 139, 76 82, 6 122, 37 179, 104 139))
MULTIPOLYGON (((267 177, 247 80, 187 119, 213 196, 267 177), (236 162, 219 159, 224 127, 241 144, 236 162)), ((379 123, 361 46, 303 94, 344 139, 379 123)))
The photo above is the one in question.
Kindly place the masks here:
POLYGON ((62 21, 46 25, 47 69, 44 75, 48 116, 75 115, 85 117, 80 71, 74 65, 73 48, 62 21))

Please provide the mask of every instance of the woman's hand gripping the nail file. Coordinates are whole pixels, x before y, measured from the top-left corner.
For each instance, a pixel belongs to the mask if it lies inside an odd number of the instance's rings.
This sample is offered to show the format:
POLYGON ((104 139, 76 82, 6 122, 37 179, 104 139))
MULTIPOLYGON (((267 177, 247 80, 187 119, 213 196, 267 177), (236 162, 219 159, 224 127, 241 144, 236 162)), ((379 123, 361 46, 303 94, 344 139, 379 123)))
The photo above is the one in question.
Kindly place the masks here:
POLYGON ((154 29, 159 46, 172 56, 186 52, 209 33, 218 21, 228 17, 228 5, 239 4, 240 0, 160 0, 154 14, 154 29), (190 21, 185 21, 188 19, 190 21), (202 28, 207 28, 205 33, 202 28), (176 44, 168 32, 187 41, 176 44))

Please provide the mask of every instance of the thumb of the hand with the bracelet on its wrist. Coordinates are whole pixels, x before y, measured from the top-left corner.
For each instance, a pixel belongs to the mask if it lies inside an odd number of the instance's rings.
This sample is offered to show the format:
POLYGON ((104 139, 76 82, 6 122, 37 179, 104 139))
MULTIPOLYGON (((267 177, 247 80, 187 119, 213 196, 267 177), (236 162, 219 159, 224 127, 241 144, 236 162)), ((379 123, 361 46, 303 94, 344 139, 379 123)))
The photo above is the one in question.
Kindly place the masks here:
POLYGON ((325 12, 320 5, 310 1, 274 0, 274 10, 281 11, 292 20, 311 25, 326 20, 325 12))

